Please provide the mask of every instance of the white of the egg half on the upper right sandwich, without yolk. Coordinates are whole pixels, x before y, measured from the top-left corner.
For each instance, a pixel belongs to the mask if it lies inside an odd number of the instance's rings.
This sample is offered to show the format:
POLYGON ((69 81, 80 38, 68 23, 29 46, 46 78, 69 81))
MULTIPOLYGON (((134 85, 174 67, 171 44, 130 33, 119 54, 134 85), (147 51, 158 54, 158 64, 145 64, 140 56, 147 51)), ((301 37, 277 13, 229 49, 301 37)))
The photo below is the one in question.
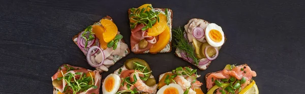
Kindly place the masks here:
POLYGON ((206 38, 206 41, 208 42, 208 44, 210 44, 211 46, 214 46, 214 47, 219 47, 219 46, 223 45, 224 42, 225 42, 224 31, 222 30, 222 28, 221 28, 220 26, 218 26, 218 25, 215 24, 215 23, 210 23, 210 24, 207 25, 207 27, 206 27, 206 29, 205 29, 205 38, 206 38), (221 33, 221 35, 222 35, 222 40, 221 40, 220 42, 215 42, 215 41, 213 41, 213 40, 209 37, 208 33, 209 33, 210 30, 212 30, 212 29, 218 30, 218 31, 221 33))

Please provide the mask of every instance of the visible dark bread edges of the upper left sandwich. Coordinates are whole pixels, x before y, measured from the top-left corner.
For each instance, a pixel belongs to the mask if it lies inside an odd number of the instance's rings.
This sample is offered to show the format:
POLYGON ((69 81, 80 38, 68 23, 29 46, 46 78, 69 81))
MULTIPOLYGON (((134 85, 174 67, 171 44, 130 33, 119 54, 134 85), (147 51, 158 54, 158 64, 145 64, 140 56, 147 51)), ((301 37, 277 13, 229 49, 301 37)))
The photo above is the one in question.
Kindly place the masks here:
MULTIPOLYGON (((110 16, 105 16, 105 17, 103 17, 102 19, 108 19, 108 20, 111 20, 111 21, 113 22, 113 19, 112 19, 110 16)), ((101 20, 102 20, 102 19, 101 19, 101 20)), ((95 22, 93 25, 101 25, 100 22, 101 22, 101 21, 95 22)), ((113 23, 114 23, 114 22, 113 22, 113 23)), ((73 42, 74 42, 77 46, 78 46, 78 44, 77 44, 77 37, 78 37, 78 35, 79 35, 80 33, 81 33, 81 32, 79 32, 78 34, 74 35, 74 37, 72 38, 73 42)), ((120 41, 123 42, 123 43, 125 43, 124 39, 120 39, 120 41)), ((125 51, 125 55, 127 56, 130 52, 131 52, 131 51, 130 51, 130 49, 129 49, 129 47, 128 47, 127 50, 125 51)), ((117 56, 117 55, 114 55, 114 57, 115 57, 115 58, 112 60, 114 63, 116 63, 116 62, 119 61, 120 59, 124 58, 124 57, 117 56), (116 57, 117 57, 117 58, 116 58, 116 57)), ((100 72, 102 72, 102 71, 100 71, 100 72)))

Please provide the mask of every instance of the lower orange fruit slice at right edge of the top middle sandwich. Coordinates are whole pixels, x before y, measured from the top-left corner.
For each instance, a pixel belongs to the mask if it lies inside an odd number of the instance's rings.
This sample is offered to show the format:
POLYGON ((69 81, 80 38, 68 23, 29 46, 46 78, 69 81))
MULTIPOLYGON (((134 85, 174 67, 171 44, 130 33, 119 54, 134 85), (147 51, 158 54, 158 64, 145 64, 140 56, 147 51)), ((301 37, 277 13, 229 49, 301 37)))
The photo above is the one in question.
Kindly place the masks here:
POLYGON ((158 53, 165 48, 170 38, 170 30, 169 27, 166 26, 165 30, 159 35, 159 40, 151 46, 149 49, 150 53, 158 53))

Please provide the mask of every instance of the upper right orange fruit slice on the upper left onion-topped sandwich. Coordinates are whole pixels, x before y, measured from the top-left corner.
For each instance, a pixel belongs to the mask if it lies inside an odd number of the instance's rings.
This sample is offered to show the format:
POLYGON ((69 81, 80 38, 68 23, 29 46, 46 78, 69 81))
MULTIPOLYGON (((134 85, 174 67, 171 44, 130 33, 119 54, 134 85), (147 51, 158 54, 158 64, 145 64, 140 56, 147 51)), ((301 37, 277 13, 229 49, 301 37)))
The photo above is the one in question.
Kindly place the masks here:
POLYGON ((117 34, 117 27, 116 25, 108 19, 102 19, 101 24, 105 28, 105 32, 103 33, 103 39, 105 42, 109 42, 113 40, 115 35, 117 34))

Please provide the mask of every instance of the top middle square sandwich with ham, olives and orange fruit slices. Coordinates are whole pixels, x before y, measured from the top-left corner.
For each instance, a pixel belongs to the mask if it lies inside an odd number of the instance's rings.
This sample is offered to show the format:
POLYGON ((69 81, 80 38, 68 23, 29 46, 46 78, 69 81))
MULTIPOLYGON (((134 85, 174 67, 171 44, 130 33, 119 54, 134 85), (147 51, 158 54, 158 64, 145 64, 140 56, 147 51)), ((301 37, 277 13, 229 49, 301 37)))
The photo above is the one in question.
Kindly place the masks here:
POLYGON ((139 8, 129 9, 128 14, 132 52, 157 54, 171 51, 172 10, 144 4, 139 8))

